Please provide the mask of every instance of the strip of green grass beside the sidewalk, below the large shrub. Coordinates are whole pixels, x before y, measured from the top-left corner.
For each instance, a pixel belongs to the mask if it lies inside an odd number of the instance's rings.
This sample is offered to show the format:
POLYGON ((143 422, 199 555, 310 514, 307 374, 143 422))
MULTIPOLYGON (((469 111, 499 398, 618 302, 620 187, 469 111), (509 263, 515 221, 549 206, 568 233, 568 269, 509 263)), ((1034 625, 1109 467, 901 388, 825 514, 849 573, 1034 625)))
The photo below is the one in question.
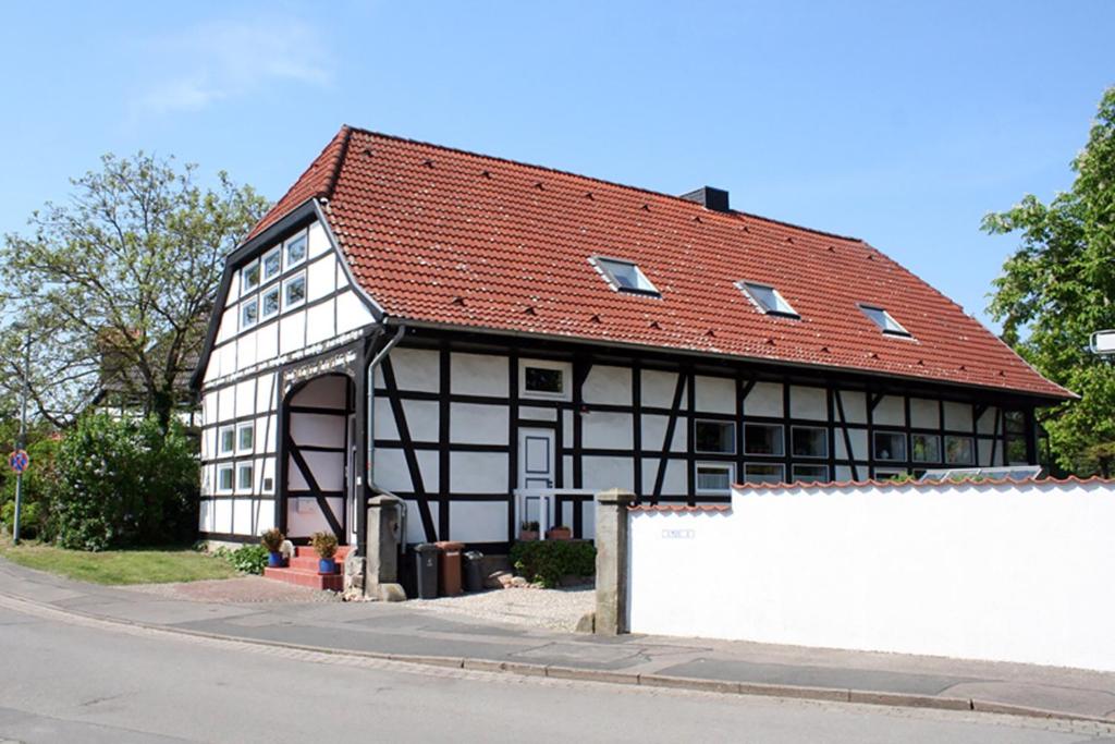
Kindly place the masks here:
POLYGON ((103 584, 167 583, 236 576, 224 559, 188 548, 87 553, 33 543, 12 545, 4 541, 0 542, 0 555, 29 569, 103 584))

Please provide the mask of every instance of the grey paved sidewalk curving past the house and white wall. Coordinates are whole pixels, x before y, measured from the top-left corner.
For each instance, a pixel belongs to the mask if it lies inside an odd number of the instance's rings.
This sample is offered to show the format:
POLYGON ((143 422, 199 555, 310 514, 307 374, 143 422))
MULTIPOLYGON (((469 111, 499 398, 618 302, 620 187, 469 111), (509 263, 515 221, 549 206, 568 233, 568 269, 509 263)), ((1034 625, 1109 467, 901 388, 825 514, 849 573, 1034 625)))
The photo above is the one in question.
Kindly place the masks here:
POLYGON ((600 638, 409 602, 183 601, 71 581, 3 559, 0 595, 168 630, 465 668, 1115 723, 1115 673, 695 638, 600 638))

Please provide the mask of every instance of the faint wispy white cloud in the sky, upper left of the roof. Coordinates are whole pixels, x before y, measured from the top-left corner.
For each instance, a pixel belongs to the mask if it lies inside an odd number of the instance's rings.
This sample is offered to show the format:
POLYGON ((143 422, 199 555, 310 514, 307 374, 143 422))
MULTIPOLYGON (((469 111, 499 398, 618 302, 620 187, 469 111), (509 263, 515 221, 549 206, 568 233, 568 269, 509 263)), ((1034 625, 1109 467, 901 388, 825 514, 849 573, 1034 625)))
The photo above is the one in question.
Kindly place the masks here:
POLYGON ((149 114, 196 112, 277 83, 328 87, 332 67, 318 30, 301 20, 221 21, 156 39, 158 76, 135 100, 149 114))

